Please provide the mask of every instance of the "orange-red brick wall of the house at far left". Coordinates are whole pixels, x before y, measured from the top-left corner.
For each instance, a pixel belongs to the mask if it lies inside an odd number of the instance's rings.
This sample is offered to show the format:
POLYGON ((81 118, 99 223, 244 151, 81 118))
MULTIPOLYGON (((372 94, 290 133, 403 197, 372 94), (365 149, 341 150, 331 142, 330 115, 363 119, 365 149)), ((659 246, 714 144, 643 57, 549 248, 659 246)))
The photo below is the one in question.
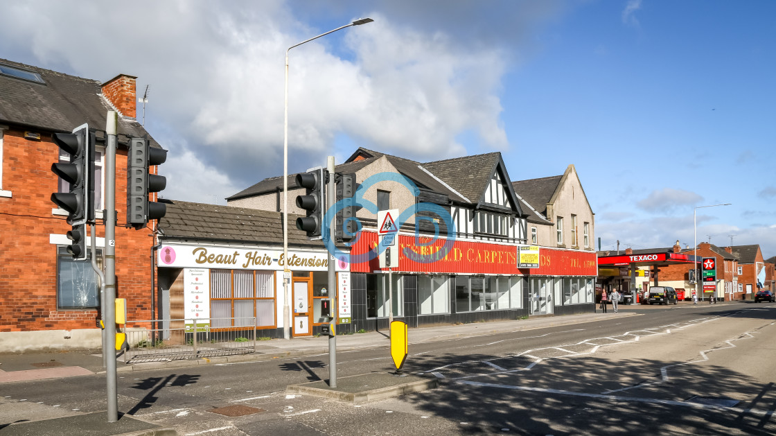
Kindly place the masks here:
MULTIPOLYGON (((59 148, 49 133, 26 140, 10 126, 3 135, 0 197, 0 332, 94 328, 96 310, 57 310, 57 246, 50 235, 71 229, 65 216, 52 213, 50 196, 58 178, 50 170, 59 148)), ((103 172, 104 174, 104 172, 103 172)), ((126 150, 116 156, 118 223, 126 222, 126 150)), ((97 225, 97 236, 105 227, 97 225)), ((151 319, 152 238, 149 229, 116 227, 117 296, 127 299, 130 319, 151 319)))

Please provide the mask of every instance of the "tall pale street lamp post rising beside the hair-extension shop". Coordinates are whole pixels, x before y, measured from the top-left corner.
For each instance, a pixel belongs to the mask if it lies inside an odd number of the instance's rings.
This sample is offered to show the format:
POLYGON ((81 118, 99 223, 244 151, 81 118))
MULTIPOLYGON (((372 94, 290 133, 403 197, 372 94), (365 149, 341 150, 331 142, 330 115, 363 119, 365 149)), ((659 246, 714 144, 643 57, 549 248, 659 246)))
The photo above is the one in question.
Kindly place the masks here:
POLYGON ((299 47, 303 43, 309 43, 312 40, 317 40, 321 36, 326 36, 329 33, 334 33, 338 30, 345 29, 350 26, 360 26, 367 22, 374 21, 371 18, 357 19, 350 24, 340 26, 337 29, 329 30, 327 33, 321 33, 318 36, 314 36, 309 40, 302 41, 295 44, 286 50, 286 88, 283 99, 283 338, 291 339, 291 292, 289 291, 289 282, 291 282, 291 270, 288 266, 289 258, 289 50, 293 47, 299 47))

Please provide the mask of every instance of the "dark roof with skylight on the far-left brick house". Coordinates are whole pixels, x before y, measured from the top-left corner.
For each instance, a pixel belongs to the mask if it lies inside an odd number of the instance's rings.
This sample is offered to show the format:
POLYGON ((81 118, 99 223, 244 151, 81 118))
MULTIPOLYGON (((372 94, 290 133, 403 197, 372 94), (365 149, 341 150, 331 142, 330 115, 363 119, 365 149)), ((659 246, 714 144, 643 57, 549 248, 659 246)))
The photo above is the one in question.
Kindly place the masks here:
MULTIPOLYGON (((41 84, 0 74, 0 124, 71 132, 88 123, 93 130, 105 130, 107 111, 115 109, 100 95, 102 84, 99 81, 5 59, 0 59, 0 64, 36 72, 46 82, 41 84)), ((118 130, 120 144, 126 144, 126 137, 147 137, 154 147, 159 147, 134 119, 120 116, 118 130)))

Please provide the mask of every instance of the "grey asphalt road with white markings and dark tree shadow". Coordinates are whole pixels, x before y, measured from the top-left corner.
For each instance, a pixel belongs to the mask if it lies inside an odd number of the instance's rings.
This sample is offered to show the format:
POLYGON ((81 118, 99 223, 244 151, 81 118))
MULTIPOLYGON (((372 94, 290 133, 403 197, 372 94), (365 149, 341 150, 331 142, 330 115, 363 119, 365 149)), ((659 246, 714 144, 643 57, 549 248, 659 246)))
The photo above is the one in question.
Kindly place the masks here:
MULTIPOLYGON (((361 407, 286 395, 327 379, 328 356, 315 355, 122 373, 119 410, 207 436, 776 434, 776 305, 622 311, 639 316, 413 344, 404 369, 440 386, 361 407)), ((387 345, 338 353, 338 377, 390 369, 387 345)), ((105 410, 104 389, 89 375, 2 395, 90 412, 105 410)))

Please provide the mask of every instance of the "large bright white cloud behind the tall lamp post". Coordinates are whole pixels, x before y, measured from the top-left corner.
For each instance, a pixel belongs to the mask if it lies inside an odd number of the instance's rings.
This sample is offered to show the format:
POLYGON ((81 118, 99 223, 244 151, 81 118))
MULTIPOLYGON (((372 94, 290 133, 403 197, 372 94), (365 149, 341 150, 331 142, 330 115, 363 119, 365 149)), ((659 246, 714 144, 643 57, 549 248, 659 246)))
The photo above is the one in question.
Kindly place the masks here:
MULTIPOLYGON (((4 11, 0 49, 16 47, 27 58, 15 61, 81 77, 135 75, 138 92, 150 84, 147 129, 157 139, 158 129, 168 129, 169 140, 187 144, 175 151, 185 156, 171 150, 162 172, 180 180, 189 171, 182 165, 192 165, 228 179, 189 178, 185 187, 170 180, 165 196, 223 198, 282 174, 283 58, 287 47, 322 31, 289 7, 31 0, 4 11), (231 186, 234 192, 213 192, 231 186)), ((375 22, 291 50, 289 171, 334 154, 341 133, 415 158, 466 154, 456 142, 463 131, 476 132, 486 148, 508 147, 499 97, 506 61, 496 45, 461 44, 444 31, 371 16, 375 22)))

